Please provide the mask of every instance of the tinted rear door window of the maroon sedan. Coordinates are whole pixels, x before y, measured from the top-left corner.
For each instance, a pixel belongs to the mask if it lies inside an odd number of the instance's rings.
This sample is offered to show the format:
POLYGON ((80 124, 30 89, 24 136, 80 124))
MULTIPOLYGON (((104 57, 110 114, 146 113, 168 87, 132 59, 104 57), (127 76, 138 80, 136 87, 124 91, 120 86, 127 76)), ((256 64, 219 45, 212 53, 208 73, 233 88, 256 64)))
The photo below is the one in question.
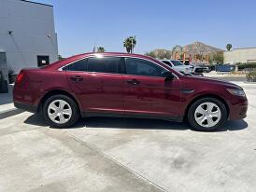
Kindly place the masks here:
POLYGON ((88 72, 119 74, 120 69, 121 58, 119 57, 89 58, 88 60, 88 72))

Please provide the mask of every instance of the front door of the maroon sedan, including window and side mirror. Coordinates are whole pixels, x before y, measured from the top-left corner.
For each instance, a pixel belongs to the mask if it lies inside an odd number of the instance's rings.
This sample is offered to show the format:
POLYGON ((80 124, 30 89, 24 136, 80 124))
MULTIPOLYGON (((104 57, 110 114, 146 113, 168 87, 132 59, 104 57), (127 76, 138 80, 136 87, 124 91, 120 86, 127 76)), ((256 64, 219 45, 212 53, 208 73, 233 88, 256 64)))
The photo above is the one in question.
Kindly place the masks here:
POLYGON ((126 58, 124 110, 127 115, 177 117, 180 104, 178 77, 166 81, 163 66, 142 59, 126 58))

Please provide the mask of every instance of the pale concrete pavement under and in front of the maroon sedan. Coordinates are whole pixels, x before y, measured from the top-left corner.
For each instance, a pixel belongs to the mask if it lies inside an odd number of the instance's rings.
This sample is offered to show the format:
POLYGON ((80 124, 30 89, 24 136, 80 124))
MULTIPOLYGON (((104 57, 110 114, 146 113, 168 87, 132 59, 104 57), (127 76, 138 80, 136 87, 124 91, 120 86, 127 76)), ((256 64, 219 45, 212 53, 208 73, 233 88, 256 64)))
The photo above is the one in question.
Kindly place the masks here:
POLYGON ((220 131, 92 117, 51 129, 24 112, 0 120, 0 191, 255 191, 256 84, 245 120, 220 131))

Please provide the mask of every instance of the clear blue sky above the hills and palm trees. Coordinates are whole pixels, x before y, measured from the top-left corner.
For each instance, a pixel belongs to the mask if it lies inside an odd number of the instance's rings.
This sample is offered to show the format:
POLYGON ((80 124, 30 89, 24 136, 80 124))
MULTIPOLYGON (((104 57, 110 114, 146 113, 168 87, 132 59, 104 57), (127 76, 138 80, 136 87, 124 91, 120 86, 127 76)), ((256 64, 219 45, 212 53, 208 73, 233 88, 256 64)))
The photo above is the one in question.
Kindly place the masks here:
POLYGON ((125 51, 137 38, 136 53, 202 41, 225 48, 256 47, 255 0, 35 0, 54 6, 60 54, 125 51))

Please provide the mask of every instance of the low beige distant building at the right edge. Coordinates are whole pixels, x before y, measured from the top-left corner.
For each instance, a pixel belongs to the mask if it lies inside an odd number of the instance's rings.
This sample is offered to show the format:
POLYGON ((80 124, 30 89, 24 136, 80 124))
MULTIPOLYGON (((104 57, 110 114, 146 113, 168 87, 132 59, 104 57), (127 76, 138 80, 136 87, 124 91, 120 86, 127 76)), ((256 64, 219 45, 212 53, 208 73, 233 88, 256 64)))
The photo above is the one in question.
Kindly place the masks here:
POLYGON ((224 63, 256 62, 256 48, 235 48, 224 52, 224 63))

